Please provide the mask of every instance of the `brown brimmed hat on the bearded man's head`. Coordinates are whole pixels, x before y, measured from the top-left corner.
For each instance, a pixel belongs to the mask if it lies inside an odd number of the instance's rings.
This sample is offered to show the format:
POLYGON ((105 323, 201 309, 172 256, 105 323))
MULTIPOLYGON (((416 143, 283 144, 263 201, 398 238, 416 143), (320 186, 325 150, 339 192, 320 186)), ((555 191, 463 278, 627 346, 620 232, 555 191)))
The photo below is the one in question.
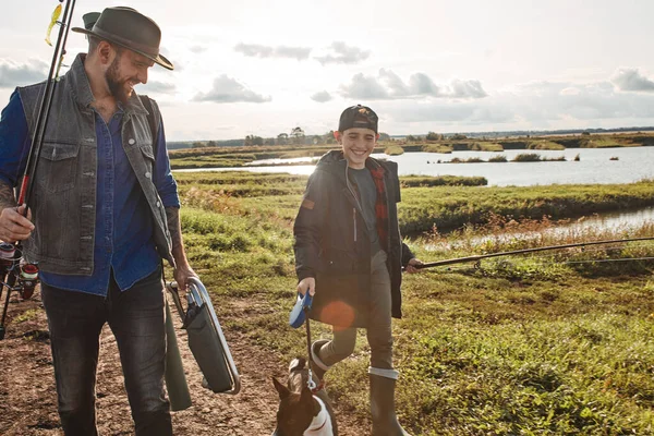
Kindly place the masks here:
POLYGON ((157 23, 132 8, 107 8, 90 29, 73 27, 73 32, 95 36, 143 55, 172 70, 172 63, 159 53, 161 29, 157 23))

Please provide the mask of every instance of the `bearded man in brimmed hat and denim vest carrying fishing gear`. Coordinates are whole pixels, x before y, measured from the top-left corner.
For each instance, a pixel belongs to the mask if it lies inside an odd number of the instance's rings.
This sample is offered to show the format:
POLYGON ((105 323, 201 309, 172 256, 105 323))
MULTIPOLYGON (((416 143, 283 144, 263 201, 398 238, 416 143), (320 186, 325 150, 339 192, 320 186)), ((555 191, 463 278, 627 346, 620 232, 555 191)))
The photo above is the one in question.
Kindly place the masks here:
POLYGON ((195 272, 160 112, 134 86, 154 63, 173 65, 159 55, 157 24, 133 9, 108 8, 90 29, 73 31, 87 35, 88 53, 56 85, 27 217, 13 190, 45 83, 16 88, 2 111, 0 240, 23 241, 39 264, 64 434, 97 435, 98 342, 108 323, 136 435, 171 435, 161 258, 182 290, 195 272))

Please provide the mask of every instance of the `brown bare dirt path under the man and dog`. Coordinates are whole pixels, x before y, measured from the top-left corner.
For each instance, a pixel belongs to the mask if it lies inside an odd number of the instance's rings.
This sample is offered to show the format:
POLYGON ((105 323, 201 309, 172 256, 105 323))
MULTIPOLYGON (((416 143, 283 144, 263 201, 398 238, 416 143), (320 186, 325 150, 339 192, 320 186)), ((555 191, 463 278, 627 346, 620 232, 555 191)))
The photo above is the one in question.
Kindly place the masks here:
MULTIPOLYGON (((237 302, 232 306, 231 316, 247 316, 237 302)), ((0 341, 0 435, 61 435, 47 322, 38 292, 26 302, 12 298, 7 328, 5 339, 0 341), (29 314, 27 320, 19 322, 17 317, 29 314)), ((225 331, 242 390, 237 396, 216 395, 201 387, 202 375, 186 347, 185 332, 178 328, 178 335, 193 405, 172 414, 174 434, 270 435, 278 403, 270 376, 286 379, 288 362, 240 334, 225 331)), ((133 434, 116 340, 108 327, 101 337, 97 398, 100 434, 133 434)), ((335 407, 341 435, 367 434, 368 423, 356 422, 340 413, 339 404, 335 407)))

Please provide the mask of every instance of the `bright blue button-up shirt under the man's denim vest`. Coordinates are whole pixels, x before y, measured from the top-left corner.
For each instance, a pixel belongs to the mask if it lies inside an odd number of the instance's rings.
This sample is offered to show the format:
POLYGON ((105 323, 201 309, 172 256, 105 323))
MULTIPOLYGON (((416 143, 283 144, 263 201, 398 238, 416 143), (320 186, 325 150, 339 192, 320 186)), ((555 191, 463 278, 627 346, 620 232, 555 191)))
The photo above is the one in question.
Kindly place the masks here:
MULTIPOLYGON (((111 271, 124 291, 153 274, 159 265, 147 201, 122 147, 122 117, 119 108, 106 123, 95 112, 97 207, 93 275, 40 272, 40 279, 49 286, 106 295, 111 271)), ((0 179, 11 186, 16 185, 25 171, 31 145, 23 104, 14 92, 0 117, 0 179)), ((180 207, 162 124, 159 124, 156 150, 153 181, 161 202, 165 207, 180 207)))

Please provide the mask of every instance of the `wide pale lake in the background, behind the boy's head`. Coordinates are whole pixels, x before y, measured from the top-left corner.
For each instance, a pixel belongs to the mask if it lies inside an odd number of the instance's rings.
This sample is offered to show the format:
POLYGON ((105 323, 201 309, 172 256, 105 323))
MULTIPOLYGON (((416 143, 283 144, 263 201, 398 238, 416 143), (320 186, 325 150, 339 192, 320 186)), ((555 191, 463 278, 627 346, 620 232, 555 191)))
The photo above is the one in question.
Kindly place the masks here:
MULTIPOLYGON (((565 150, 505 150, 493 152, 453 152, 451 154, 405 153, 400 156, 375 154, 373 157, 385 158, 398 162, 400 175, 481 175, 492 186, 530 186, 546 184, 597 184, 597 183, 632 183, 642 179, 654 178, 654 147, 619 147, 619 148, 568 148, 565 150), (542 157, 557 158, 564 156, 566 161, 553 162, 505 162, 505 164, 445 164, 458 157, 468 159, 479 157, 488 160, 493 156, 502 155, 507 160, 524 153, 536 153, 542 157), (573 161, 579 155, 580 161, 573 161), (619 160, 610 160, 617 157, 619 160), (441 164, 436 164, 438 160, 441 164)), ((310 159, 310 158, 306 158, 310 159)), ((302 161, 294 159, 269 159, 253 164, 292 164, 302 161)), ((292 174, 311 174, 313 165, 275 165, 270 167, 217 168, 178 171, 253 171, 253 172, 288 172, 292 174)))

